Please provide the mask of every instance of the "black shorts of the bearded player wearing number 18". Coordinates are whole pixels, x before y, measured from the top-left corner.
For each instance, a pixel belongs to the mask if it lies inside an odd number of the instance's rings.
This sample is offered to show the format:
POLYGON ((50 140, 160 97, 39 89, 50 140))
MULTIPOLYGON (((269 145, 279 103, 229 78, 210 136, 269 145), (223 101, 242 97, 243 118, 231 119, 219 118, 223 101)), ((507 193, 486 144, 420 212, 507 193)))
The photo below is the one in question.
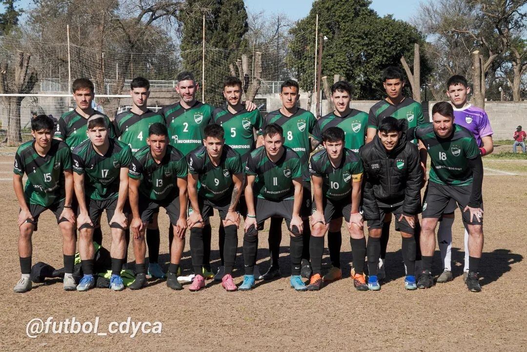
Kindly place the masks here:
MULTIPOLYGON (((469 204, 471 192, 472 185, 448 186, 428 182, 423 201, 423 218, 441 218, 451 199, 453 199, 461 210, 464 224, 482 225, 483 216, 480 218, 480 222, 477 222, 475 219, 474 221, 470 219, 470 212, 468 210, 463 212, 463 209, 469 204)), ((480 207, 483 209, 483 199, 480 199, 480 204, 480 207)))

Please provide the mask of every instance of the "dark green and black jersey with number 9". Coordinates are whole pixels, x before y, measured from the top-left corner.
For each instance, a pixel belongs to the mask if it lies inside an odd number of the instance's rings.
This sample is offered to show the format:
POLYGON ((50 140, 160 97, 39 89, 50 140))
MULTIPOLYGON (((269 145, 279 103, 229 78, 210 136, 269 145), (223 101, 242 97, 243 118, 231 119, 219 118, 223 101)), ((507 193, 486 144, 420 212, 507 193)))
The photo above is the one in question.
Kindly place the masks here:
POLYGON ((212 200, 230 198, 234 187, 232 175, 243 172, 240 154, 228 145, 223 146, 218 166, 212 164, 205 146, 192 150, 187 162, 189 172, 199 175, 198 195, 212 200))

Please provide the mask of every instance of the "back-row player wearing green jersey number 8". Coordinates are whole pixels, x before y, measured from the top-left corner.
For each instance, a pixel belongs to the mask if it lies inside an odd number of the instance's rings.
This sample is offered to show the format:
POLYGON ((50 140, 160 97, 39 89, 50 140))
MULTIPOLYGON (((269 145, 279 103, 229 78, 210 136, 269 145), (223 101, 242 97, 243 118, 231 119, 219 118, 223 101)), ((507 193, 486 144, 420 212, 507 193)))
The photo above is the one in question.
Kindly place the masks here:
MULTIPOLYGON (((309 263, 309 238, 311 237, 311 228, 309 226, 309 215, 311 213, 311 183, 308 170, 309 154, 311 144, 309 134, 313 133, 316 125, 316 119, 313 114, 307 110, 297 107, 299 96, 298 83, 288 79, 280 86, 280 99, 282 107, 270 112, 264 119, 262 128, 258 136, 258 146, 264 145, 264 136, 262 131, 267 125, 277 124, 284 130, 284 146, 291 148, 300 156, 302 164, 302 192, 304 202, 300 208, 300 216, 304 222, 304 252, 302 253, 301 276, 309 279, 311 277, 311 265, 309 263)), ((317 145, 318 142, 313 142, 317 145)), ((271 217, 269 226, 269 252, 271 256, 271 266, 263 278, 269 280, 280 276, 278 258, 280 252, 280 241, 282 239, 282 218, 271 217)))

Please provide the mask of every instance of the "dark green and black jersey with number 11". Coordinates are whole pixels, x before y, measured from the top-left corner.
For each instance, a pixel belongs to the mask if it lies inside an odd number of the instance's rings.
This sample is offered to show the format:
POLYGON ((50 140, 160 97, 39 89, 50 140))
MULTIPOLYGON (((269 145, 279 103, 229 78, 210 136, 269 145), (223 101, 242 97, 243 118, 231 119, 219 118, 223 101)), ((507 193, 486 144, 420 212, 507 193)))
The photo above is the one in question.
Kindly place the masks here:
POLYGON ((284 149, 276 163, 269 159, 263 146, 253 150, 247 159, 245 173, 256 176, 253 190, 258 198, 284 200, 295 197, 292 180, 302 177, 301 160, 291 148, 284 146, 284 149))

